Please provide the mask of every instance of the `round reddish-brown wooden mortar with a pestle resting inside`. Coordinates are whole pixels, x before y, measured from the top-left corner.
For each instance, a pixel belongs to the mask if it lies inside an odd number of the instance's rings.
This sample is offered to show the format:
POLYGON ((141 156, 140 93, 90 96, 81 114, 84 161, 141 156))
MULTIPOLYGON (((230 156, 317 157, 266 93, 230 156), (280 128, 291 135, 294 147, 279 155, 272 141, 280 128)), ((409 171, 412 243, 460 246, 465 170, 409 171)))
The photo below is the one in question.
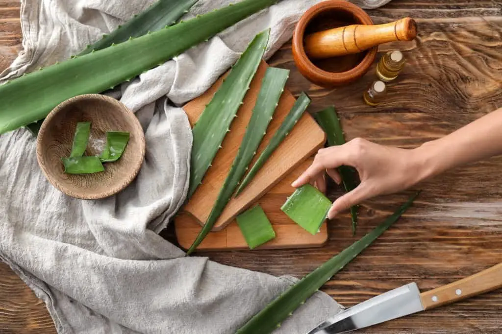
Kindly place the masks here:
POLYGON ((378 47, 320 60, 309 59, 304 49, 305 36, 352 24, 373 25, 373 22, 361 8, 343 0, 326 0, 309 8, 293 33, 293 58, 300 73, 311 82, 328 88, 362 77, 373 64, 378 47))

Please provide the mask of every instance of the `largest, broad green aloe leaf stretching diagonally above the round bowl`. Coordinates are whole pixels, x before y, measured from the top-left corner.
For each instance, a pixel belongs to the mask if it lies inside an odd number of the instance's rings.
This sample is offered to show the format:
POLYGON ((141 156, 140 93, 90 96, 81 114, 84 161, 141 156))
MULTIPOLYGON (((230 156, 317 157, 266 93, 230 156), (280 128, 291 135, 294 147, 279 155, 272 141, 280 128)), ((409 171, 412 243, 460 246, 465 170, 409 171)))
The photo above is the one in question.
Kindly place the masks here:
POLYGON ((276 2, 242 0, 7 82, 0 86, 0 134, 44 118, 70 97, 100 93, 130 80, 276 2))

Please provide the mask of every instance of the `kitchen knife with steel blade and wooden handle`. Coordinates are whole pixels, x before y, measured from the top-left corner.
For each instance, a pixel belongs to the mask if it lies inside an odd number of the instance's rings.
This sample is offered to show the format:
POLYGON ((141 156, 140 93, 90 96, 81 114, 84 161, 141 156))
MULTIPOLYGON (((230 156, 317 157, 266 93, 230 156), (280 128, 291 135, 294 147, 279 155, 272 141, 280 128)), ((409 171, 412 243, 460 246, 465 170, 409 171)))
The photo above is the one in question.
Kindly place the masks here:
POLYGON ((344 309, 334 317, 321 322, 308 334, 345 333, 453 303, 499 287, 502 287, 502 263, 422 293, 416 283, 410 283, 344 309))

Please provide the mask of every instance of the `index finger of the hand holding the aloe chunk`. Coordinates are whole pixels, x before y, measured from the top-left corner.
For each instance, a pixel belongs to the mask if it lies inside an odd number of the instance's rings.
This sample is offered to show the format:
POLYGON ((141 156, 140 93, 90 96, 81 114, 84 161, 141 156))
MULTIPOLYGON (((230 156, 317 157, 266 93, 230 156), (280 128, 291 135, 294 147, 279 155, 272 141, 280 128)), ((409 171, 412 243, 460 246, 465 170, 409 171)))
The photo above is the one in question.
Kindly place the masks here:
POLYGON ((309 183, 311 180, 316 180, 325 170, 337 168, 341 164, 347 163, 346 150, 342 146, 320 149, 314 158, 314 162, 291 185, 298 188, 309 183))

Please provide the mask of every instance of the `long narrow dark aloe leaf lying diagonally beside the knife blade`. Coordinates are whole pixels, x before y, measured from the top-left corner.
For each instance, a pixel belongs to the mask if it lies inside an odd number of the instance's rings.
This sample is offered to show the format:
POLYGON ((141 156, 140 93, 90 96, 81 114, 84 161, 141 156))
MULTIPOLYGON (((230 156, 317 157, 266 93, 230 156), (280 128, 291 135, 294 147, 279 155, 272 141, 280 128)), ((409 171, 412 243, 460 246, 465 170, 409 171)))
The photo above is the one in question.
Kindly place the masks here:
POLYGON ((334 274, 340 271, 347 263, 352 261, 359 253, 368 247, 376 238, 380 237, 403 213, 412 205, 419 193, 413 195, 408 202, 403 204, 393 215, 388 217, 382 224, 370 231, 364 237, 354 242, 350 247, 322 264, 316 270, 305 276, 291 286, 282 295, 274 299, 263 310, 257 313, 239 330, 238 334, 268 334, 280 326, 293 311, 305 300, 316 292, 334 274))

